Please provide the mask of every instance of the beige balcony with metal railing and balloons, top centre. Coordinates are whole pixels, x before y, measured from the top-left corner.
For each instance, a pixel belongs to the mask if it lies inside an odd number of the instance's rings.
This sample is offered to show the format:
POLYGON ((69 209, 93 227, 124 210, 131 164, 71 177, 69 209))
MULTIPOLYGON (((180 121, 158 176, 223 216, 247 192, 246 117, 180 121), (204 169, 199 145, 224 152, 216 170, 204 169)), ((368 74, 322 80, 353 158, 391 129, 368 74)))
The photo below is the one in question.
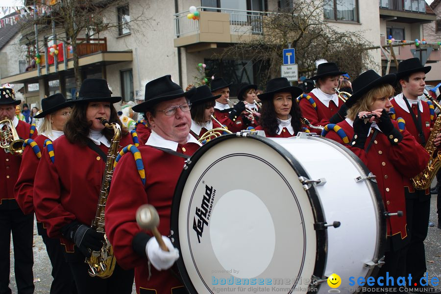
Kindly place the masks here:
POLYGON ((263 34, 263 18, 269 12, 197 7, 199 20, 187 18, 189 11, 174 15, 174 47, 187 52, 217 48, 219 43, 238 43, 263 34))

